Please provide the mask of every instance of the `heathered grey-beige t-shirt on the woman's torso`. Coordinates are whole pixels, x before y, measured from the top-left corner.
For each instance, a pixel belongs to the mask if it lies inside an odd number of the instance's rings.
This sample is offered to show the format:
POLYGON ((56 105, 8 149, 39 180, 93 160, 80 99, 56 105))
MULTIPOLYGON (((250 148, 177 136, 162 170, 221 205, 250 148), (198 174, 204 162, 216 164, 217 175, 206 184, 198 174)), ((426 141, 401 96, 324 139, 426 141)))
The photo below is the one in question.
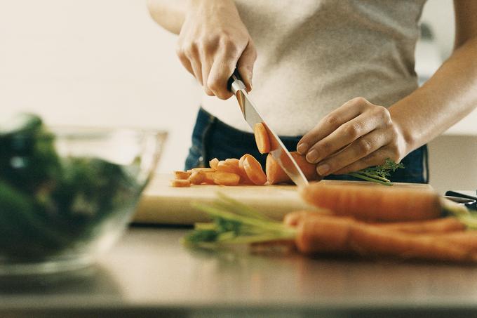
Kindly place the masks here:
MULTIPOLYGON (((255 42, 255 102, 279 135, 303 135, 362 96, 389 107, 417 88, 419 18, 426 0, 236 0, 255 42)), ((243 131, 235 98, 202 106, 243 131)))

